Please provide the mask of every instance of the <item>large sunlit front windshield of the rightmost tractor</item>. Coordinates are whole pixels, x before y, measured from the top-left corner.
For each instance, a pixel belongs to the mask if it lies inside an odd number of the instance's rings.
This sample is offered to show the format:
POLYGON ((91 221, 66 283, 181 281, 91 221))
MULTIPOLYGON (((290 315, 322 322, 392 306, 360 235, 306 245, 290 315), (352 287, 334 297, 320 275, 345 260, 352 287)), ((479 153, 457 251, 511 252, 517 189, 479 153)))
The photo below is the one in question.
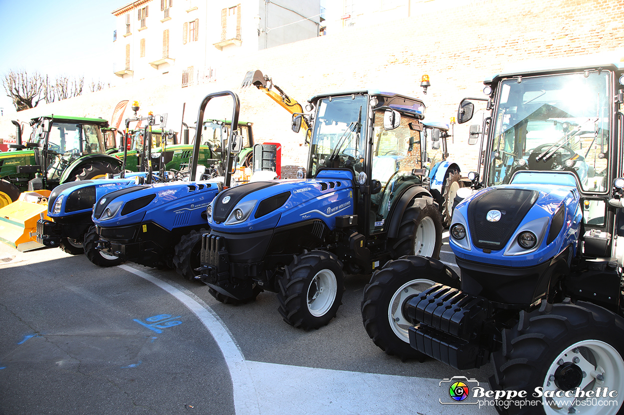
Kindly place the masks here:
POLYGON ((500 85, 488 185, 523 169, 567 170, 583 191, 607 190, 610 74, 588 71, 500 85))

